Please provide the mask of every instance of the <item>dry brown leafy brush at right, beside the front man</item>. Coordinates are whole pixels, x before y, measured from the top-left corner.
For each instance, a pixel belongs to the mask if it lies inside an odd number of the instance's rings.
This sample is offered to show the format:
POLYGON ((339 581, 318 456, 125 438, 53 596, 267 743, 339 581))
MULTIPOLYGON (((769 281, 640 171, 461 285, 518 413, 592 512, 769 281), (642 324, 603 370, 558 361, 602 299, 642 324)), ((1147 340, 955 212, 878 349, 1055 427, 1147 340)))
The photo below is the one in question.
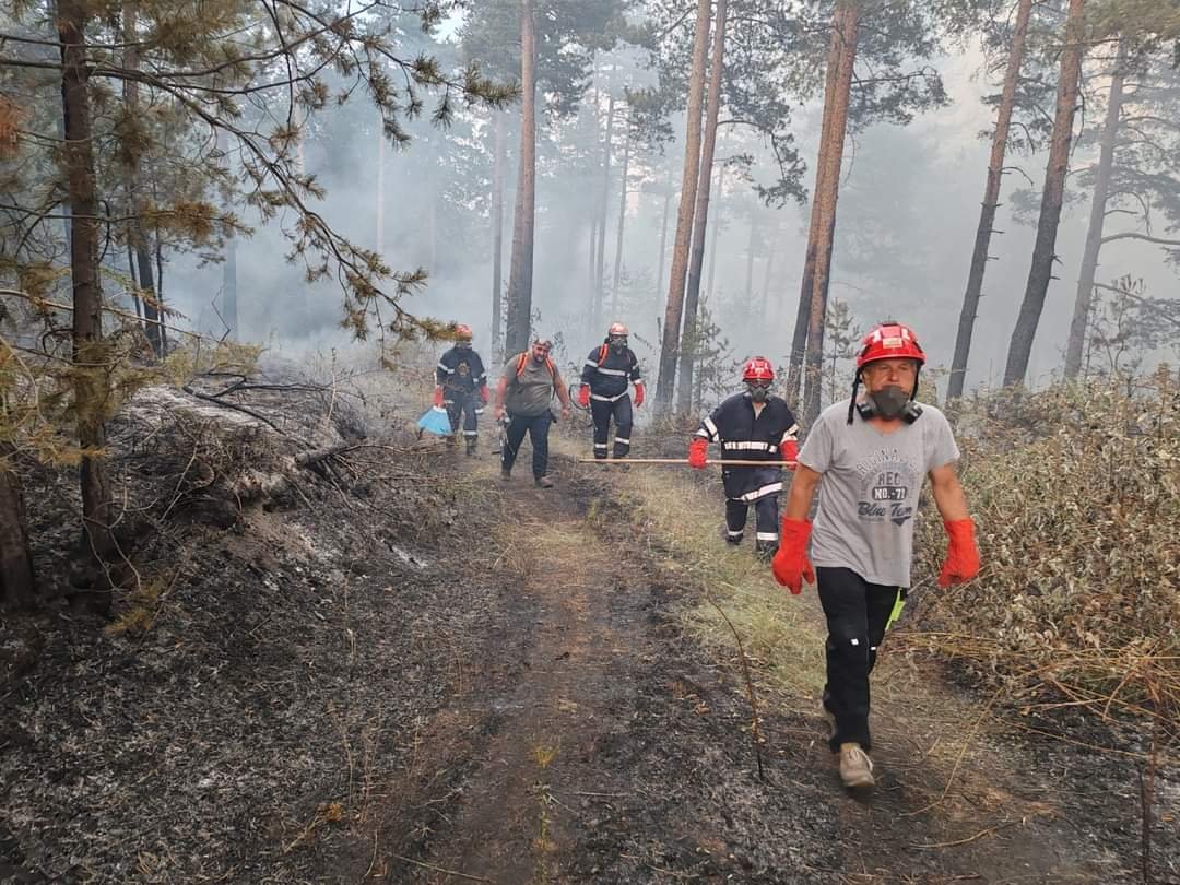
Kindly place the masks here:
MULTIPOLYGON (((1025 715, 1146 720, 1165 743, 1180 738, 1178 402, 1161 373, 965 408, 984 570, 931 595, 904 638, 1025 715)), ((937 522, 919 526, 922 570, 943 556, 937 522)))

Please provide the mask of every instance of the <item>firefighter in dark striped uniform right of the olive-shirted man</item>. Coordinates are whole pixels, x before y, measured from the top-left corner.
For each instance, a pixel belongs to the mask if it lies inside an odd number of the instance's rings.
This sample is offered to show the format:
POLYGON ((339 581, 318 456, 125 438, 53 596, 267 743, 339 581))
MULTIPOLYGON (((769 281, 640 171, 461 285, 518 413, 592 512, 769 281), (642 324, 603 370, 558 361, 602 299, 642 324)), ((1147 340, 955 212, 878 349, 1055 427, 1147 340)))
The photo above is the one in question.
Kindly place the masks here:
POLYGON ((604 459, 609 447, 610 419, 615 419, 615 457, 625 458, 631 451, 631 396, 635 385, 635 407, 643 405, 643 381, 640 361, 627 346, 627 327, 610 324, 607 339, 590 352, 582 368, 578 405, 589 408, 594 418, 594 457, 604 459))

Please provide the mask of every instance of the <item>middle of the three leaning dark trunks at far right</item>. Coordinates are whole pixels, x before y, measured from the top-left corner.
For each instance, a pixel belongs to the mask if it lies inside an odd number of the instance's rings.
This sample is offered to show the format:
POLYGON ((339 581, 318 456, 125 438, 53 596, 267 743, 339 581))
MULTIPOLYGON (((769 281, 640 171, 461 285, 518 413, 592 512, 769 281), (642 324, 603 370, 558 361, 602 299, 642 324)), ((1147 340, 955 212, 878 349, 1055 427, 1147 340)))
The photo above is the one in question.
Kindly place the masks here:
POLYGON ((1082 5, 1083 0, 1069 0, 1066 46, 1061 53, 1061 80, 1057 84, 1057 111, 1053 122, 1044 192, 1041 196, 1041 219, 1037 223, 1036 245, 1032 249, 1032 266, 1029 268, 1024 302, 1021 304, 1021 313, 1008 347, 1008 365, 1004 367, 1005 387, 1024 381, 1036 327, 1041 321, 1041 309, 1044 307, 1044 296, 1053 278, 1053 262, 1056 258, 1054 249, 1057 243, 1057 225, 1061 222, 1061 205, 1066 196, 1069 145, 1074 135, 1074 113, 1077 111, 1077 88, 1082 67, 1084 39, 1082 5))

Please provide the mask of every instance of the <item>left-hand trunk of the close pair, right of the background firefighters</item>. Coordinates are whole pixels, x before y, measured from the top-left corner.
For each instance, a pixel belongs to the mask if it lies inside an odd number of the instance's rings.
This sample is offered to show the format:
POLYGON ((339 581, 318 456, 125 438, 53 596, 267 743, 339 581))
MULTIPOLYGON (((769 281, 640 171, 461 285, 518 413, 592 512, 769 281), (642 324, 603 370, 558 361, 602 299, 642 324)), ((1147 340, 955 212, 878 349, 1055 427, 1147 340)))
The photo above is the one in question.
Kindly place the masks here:
POLYGON ((709 0, 696 0, 696 26, 693 35, 693 71, 688 81, 688 118, 684 135, 684 172, 680 183, 680 208, 676 211, 676 238, 668 280, 668 303, 664 308, 663 340, 660 347, 660 375, 656 381, 656 406, 671 406, 676 386, 676 362, 680 355, 680 321, 684 310, 684 277, 688 275, 688 245, 693 235, 693 210, 701 169, 701 106, 704 103, 704 65, 709 50, 709 0))

